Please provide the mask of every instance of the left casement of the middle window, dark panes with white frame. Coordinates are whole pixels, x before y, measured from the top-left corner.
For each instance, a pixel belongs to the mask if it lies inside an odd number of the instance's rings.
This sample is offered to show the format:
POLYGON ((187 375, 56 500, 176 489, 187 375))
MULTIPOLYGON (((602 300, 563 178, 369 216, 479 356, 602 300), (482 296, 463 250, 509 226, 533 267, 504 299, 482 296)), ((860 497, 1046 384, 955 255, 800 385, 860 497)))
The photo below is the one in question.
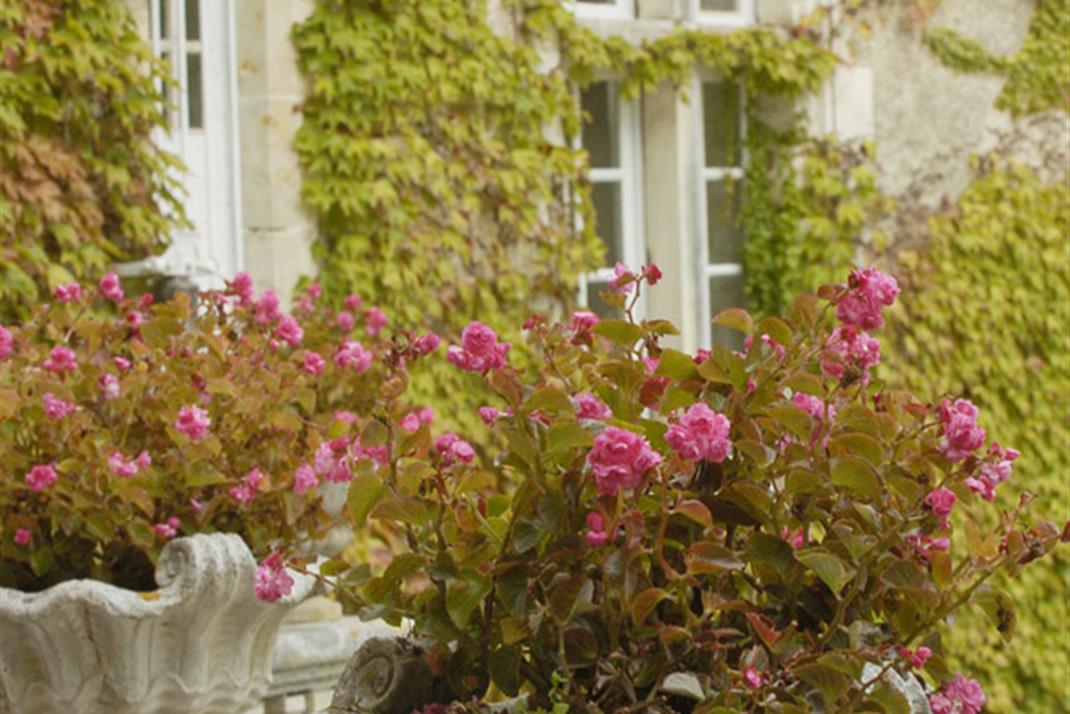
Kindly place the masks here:
POLYGON ((605 264, 580 285, 580 303, 600 315, 612 308, 598 295, 613 279, 620 261, 638 268, 644 259, 639 108, 622 100, 615 81, 596 81, 580 92, 584 113, 580 146, 591 165, 595 230, 606 244, 605 264))

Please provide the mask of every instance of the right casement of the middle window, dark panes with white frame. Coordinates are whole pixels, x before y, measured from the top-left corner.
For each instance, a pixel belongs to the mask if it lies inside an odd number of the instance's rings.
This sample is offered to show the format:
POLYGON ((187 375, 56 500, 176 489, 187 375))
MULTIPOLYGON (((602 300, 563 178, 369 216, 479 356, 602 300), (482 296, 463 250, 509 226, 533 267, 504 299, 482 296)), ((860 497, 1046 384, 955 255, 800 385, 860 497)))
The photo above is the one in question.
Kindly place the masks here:
POLYGON ((728 344, 735 333, 709 326, 709 320, 728 307, 745 305, 743 276, 743 93, 728 81, 702 82, 702 207, 704 209, 705 335, 728 344))

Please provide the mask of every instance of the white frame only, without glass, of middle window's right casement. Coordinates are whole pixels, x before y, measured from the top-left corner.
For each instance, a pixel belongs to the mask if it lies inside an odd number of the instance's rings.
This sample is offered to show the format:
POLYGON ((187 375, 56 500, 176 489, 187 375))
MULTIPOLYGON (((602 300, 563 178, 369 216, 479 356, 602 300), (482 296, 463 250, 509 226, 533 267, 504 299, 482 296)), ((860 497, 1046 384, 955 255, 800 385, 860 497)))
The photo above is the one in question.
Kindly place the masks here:
MULTIPOLYGON (((706 184, 712 181, 737 181, 742 182, 744 178, 745 167, 747 166, 747 94, 740 88, 739 92, 739 166, 706 166, 706 137, 704 133, 704 111, 705 102, 702 92, 702 85, 709 81, 718 81, 719 78, 708 75, 697 73, 693 79, 693 86, 691 88, 691 96, 698 97, 697 101, 692 101, 692 107, 694 111, 693 116, 693 126, 694 126, 694 142, 698 147, 696 152, 698 161, 697 164, 697 177, 696 181, 696 206, 698 208, 698 215, 696 219, 696 228, 698 231, 698 248, 699 248, 699 295, 701 300, 701 310, 700 315, 702 318, 699 321, 700 324, 700 339, 703 345, 710 345, 713 343, 713 324, 712 320, 715 315, 712 314, 709 307, 709 279, 714 277, 734 277, 737 275, 743 275, 743 263, 737 262, 721 262, 712 263, 709 262, 709 221, 708 221, 708 206, 706 204, 706 184)), ((737 184, 742 186, 740 184, 737 184)), ((746 240, 746 236, 744 236, 746 240)))

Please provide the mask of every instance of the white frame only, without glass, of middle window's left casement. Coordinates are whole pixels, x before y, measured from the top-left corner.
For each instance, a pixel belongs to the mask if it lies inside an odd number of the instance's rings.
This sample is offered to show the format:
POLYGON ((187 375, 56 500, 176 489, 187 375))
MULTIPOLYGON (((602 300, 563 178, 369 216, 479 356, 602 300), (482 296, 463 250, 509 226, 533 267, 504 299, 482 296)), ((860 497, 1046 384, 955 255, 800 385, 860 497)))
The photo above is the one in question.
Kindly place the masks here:
MULTIPOLYGON (((621 262, 631 270, 639 270, 646 261, 646 243, 644 241, 643 215, 643 166, 642 166, 642 125, 638 98, 625 100, 618 93, 618 82, 612 78, 595 80, 609 82, 616 95, 620 126, 617 146, 621 152, 621 165, 612 168, 591 168, 587 181, 596 183, 618 183, 621 185, 621 262)), ((592 82, 594 83, 594 82, 592 82)), ((579 103, 579 91, 576 92, 579 103)), ((582 149, 580 136, 576 137, 574 147, 582 149)), ((581 225, 582 228, 582 225, 581 225)), ((588 286, 592 283, 609 283, 615 274, 614 265, 605 265, 591 273, 580 276, 578 301, 581 307, 590 303, 588 286)), ((643 300, 636 307, 643 312, 643 300)))

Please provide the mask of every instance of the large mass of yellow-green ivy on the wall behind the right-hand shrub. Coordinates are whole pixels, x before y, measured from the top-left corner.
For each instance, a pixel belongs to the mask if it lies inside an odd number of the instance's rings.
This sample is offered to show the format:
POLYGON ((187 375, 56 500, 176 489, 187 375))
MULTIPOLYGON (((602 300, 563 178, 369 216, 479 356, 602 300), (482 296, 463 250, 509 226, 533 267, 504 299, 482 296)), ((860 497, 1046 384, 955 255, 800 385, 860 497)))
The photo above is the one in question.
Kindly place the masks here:
MULTIPOLYGON (((933 218, 923 253, 902 253, 902 306, 883 374, 929 394, 963 395, 1004 445, 1012 478, 1039 499, 1034 519, 1067 519, 1070 500, 1070 189, 1020 167, 982 173, 933 218)), ((997 505, 1014 504, 997 496, 997 505)), ((952 547, 961 547, 957 541, 952 547)), ((950 654, 984 685, 992 712, 1058 712, 1070 701, 1070 561, 998 584, 1018 605, 1004 641, 979 611, 951 627, 950 654)))

